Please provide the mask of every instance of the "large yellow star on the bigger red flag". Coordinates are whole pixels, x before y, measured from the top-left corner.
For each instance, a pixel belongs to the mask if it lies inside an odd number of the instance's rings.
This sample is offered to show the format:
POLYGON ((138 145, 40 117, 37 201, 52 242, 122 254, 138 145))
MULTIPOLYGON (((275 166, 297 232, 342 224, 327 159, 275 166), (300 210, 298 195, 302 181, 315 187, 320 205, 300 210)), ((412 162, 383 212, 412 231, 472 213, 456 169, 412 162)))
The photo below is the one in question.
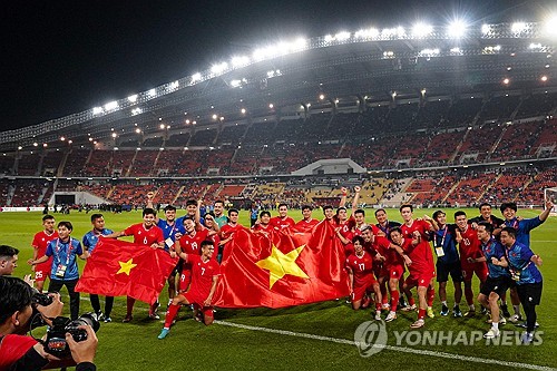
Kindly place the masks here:
POLYGON ((268 289, 273 289, 275 282, 284 277, 285 274, 309 279, 307 274, 296 264, 296 258, 304 247, 305 245, 302 245, 287 254, 283 254, 273 245, 271 255, 255 263, 258 267, 268 271, 268 289))

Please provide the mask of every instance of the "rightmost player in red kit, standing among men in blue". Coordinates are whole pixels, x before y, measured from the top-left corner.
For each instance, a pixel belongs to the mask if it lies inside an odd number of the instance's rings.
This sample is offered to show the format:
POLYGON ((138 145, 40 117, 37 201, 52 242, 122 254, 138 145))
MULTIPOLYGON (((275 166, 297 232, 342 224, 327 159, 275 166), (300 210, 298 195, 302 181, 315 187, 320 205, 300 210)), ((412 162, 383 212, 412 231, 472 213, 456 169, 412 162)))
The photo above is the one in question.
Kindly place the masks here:
POLYGON ((478 234, 468 224, 466 213, 458 211, 455 213, 455 223, 457 224, 457 242, 460 250, 460 265, 462 267, 462 279, 465 281, 465 297, 469 306, 465 314, 467 318, 476 315, 476 306, 473 305, 472 277, 473 274, 480 280, 480 286, 486 282, 488 276, 488 267, 486 262, 476 261, 481 257, 481 244, 478 240, 478 234))

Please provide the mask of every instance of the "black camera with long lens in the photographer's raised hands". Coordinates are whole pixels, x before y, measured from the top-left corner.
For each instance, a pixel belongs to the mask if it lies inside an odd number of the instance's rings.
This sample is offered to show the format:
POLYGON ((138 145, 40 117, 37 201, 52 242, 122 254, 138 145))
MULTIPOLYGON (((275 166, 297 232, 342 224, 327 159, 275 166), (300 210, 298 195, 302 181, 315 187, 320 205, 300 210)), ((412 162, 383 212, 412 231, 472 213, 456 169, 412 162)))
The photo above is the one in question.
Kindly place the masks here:
POLYGON ((69 357, 70 349, 66 342, 66 333, 69 333, 77 342, 86 340, 87 332, 78 329, 80 325, 91 326, 95 332, 100 328, 95 313, 85 313, 74 321, 65 316, 53 319, 52 325, 47 332, 47 339, 43 342, 45 351, 58 358, 69 357))

